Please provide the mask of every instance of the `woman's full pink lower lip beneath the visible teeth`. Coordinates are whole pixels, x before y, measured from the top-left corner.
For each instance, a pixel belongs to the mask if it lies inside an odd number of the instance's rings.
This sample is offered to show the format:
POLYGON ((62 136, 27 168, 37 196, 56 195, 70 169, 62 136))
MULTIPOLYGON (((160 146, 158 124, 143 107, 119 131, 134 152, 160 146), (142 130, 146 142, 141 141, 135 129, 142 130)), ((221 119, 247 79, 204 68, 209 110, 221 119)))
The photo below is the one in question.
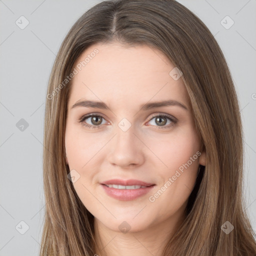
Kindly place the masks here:
POLYGON ((103 187, 103 189, 109 196, 122 201, 129 201, 129 200, 136 199, 148 193, 154 187, 154 185, 151 185, 151 186, 147 186, 144 188, 137 188, 137 189, 118 189, 118 188, 108 187, 104 184, 100 184, 100 185, 103 187))

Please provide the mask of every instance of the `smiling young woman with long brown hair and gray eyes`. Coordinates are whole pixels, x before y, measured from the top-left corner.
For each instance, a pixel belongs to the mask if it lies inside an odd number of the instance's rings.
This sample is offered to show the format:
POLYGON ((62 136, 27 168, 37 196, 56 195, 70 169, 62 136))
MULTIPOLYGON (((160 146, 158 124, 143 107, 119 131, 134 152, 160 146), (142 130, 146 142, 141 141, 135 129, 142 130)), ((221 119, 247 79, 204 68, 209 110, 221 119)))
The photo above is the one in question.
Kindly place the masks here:
POLYGON ((40 255, 255 255, 223 54, 173 0, 109 0, 59 49, 40 255))

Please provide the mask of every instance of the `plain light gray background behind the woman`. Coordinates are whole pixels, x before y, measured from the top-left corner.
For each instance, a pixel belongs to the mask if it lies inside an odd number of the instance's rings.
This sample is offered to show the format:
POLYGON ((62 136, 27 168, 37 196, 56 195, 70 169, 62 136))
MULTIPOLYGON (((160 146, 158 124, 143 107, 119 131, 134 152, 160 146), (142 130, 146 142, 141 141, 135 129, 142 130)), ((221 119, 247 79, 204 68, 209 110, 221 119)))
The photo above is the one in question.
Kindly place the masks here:
MULTIPOLYGON (((67 31, 98 2, 0 0, 0 256, 38 254, 45 205, 42 141, 47 81, 67 31), (21 23, 21 15, 29 21, 24 29, 15 23, 21 23), (28 127, 20 130, 22 118, 28 127)), ((256 230, 256 1, 179 2, 215 35, 232 73, 244 126, 244 194, 256 230), (228 29, 232 21, 223 19, 227 15, 234 21, 228 29)))

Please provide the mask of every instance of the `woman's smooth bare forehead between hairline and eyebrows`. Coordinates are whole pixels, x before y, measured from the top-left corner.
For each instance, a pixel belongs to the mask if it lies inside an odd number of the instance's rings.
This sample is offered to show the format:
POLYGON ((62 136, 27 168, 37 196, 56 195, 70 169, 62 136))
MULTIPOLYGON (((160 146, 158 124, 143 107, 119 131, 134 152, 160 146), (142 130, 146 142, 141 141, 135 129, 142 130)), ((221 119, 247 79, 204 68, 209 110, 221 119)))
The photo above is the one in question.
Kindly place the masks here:
POLYGON ((130 107, 150 99, 188 100, 182 77, 175 80, 169 74, 175 66, 151 46, 93 44, 74 66, 77 74, 72 78, 69 107, 80 98, 130 107))

